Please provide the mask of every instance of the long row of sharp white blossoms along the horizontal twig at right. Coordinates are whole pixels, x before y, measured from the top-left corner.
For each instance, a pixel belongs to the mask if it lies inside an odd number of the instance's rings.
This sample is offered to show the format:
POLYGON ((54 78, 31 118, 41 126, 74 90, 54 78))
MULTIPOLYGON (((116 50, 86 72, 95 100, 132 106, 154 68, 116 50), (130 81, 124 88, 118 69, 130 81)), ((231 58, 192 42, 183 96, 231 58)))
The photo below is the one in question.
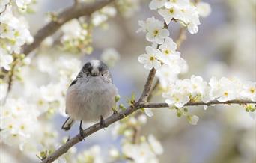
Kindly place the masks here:
POLYGON ((234 99, 249 99, 256 101, 256 82, 241 82, 239 79, 215 77, 205 82, 201 76, 191 76, 190 79, 177 80, 168 84, 168 89, 162 93, 168 105, 182 108, 187 102, 210 102, 216 99, 227 102, 234 99))

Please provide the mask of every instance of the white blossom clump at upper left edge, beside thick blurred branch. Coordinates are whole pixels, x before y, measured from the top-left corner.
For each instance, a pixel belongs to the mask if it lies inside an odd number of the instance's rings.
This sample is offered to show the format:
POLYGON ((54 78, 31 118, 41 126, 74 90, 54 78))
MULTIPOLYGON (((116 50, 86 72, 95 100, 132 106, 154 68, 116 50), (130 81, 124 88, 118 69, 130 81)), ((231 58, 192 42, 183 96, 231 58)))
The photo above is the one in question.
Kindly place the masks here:
MULTIPOLYGON (((21 1, 16 1, 18 7, 24 7, 21 1)), ((31 43, 31 37, 28 31, 28 25, 22 17, 14 16, 13 7, 10 1, 3 1, 0 7, 0 62, 1 67, 10 70, 10 64, 13 62, 12 54, 20 54, 21 46, 25 43, 31 43)))

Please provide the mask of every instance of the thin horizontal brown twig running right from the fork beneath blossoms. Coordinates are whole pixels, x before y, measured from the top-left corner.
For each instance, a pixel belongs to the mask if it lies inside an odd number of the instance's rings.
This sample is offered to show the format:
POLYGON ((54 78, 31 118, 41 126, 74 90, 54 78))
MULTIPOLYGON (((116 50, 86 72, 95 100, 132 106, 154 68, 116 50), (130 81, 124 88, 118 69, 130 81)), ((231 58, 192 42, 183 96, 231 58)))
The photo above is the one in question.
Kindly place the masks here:
MULTIPOLYGON (((239 104, 239 105, 245 105, 245 104, 256 104, 256 102, 251 100, 231 100, 226 102, 219 102, 217 100, 213 100, 210 102, 188 102, 185 106, 198 106, 198 105, 216 105, 216 104, 239 104)), ((148 103, 144 105, 140 105, 143 108, 168 108, 167 103, 148 103)))

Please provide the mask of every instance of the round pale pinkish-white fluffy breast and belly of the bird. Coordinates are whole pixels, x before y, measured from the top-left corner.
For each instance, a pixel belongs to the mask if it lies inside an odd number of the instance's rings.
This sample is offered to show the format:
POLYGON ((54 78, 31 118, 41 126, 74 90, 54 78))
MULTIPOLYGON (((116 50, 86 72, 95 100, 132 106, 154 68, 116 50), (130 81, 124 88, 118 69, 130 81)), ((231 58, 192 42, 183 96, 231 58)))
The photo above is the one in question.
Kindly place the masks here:
POLYGON ((117 88, 103 76, 91 77, 73 84, 67 90, 66 112, 75 120, 95 122, 112 113, 117 88))

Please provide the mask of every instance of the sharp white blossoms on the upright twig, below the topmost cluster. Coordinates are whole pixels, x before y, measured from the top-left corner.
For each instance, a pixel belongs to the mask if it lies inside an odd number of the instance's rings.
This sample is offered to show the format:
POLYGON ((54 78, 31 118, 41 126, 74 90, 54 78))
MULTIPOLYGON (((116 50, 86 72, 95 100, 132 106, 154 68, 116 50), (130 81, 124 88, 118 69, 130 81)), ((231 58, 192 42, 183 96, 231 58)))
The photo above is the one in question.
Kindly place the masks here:
POLYGON ((146 47, 146 54, 138 57, 138 61, 144 64, 145 69, 158 70, 164 64, 176 74, 186 69, 186 61, 180 57, 180 52, 177 52, 177 44, 169 37, 164 22, 151 17, 146 21, 140 21, 139 25, 141 28, 138 31, 146 32, 147 40, 153 43, 152 46, 146 47))

